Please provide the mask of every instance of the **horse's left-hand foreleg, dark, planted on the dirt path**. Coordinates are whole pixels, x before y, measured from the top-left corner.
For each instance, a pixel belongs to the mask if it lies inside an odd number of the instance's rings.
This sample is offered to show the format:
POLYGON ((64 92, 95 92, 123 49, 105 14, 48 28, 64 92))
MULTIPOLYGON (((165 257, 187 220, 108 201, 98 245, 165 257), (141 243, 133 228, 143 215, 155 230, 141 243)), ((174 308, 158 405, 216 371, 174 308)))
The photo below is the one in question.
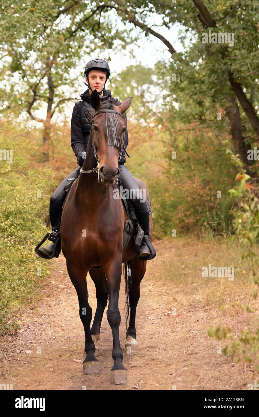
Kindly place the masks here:
POLYGON ((83 372, 85 374, 98 374, 98 360, 95 357, 95 344, 90 330, 92 309, 88 303, 87 271, 83 271, 77 264, 67 261, 67 272, 77 291, 79 315, 85 330, 85 352, 87 355, 83 362, 83 372))

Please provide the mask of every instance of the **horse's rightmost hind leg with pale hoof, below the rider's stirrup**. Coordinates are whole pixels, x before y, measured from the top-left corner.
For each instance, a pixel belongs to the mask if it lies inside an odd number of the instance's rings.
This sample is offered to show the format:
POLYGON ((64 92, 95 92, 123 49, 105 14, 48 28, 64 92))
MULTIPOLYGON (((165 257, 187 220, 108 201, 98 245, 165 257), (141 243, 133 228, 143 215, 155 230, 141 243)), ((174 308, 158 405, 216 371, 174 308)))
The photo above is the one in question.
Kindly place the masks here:
MULTIPOLYGON (((129 288, 129 327, 126 332, 125 351, 127 354, 138 352, 138 343, 136 340, 136 309, 140 297, 140 282, 146 272, 147 261, 141 261, 136 257, 132 259, 132 281, 129 288)), ((126 277, 127 279, 127 277, 126 277)))

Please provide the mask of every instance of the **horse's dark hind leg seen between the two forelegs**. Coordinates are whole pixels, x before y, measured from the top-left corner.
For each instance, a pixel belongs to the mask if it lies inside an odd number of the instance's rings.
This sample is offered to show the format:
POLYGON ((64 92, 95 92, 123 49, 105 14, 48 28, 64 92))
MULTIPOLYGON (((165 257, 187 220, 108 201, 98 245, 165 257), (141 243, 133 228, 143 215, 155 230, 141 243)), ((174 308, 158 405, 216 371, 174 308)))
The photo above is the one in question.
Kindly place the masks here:
POLYGON ((99 339, 100 329, 102 323, 102 316, 107 306, 108 290, 105 272, 102 269, 90 269, 89 274, 95 283, 97 307, 95 311, 95 318, 91 328, 92 339, 95 342, 95 356, 99 355, 99 339))

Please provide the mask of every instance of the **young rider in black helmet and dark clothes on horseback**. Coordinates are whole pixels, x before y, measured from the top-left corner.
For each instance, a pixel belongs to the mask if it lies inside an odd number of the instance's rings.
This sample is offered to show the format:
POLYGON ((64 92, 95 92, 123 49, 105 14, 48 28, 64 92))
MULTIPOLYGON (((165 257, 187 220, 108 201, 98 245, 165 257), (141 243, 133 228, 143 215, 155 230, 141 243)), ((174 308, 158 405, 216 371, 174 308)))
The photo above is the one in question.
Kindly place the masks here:
MULTIPOLYGON (((73 113, 72 113, 72 120, 71 120, 71 146, 73 151, 75 152, 75 156, 77 157, 77 163, 79 167, 77 167, 72 173, 70 173, 57 187, 54 191, 52 196, 50 197, 50 222, 52 226, 52 231, 55 225, 57 224, 58 219, 60 218, 60 214, 62 212, 62 206, 65 200, 66 191, 64 191, 64 187, 68 184, 68 181, 74 180, 80 172, 80 167, 82 167, 84 163, 85 157, 85 148, 87 146, 87 142, 90 136, 91 130, 91 123, 90 123, 90 113, 93 112, 93 108, 90 105, 90 97, 94 90, 97 90, 97 93, 100 95, 100 101, 109 100, 114 106, 120 106, 122 104, 116 98, 113 98, 111 95, 110 90, 105 89, 105 83, 110 76, 110 68, 108 63, 100 58, 95 58, 90 60, 85 67, 85 85, 89 88, 84 93, 80 95, 82 101, 77 101, 75 103, 73 113), (87 84, 87 82, 88 84, 87 84)), ((126 112, 123 114, 123 117, 126 121, 127 126, 127 116, 126 112)), ((125 131, 124 135, 124 148, 127 148, 127 144, 129 142, 127 130, 125 131)), ((134 206, 135 214, 139 221, 141 228, 144 231, 144 235, 149 235, 149 213, 150 213, 150 206, 145 198, 142 196, 142 193, 139 191, 139 186, 137 182, 134 180, 133 176, 127 168, 125 167, 125 151, 122 153, 122 158, 119 161, 119 169, 120 169, 120 181, 122 182, 122 187, 124 189, 130 190, 134 189, 135 195, 134 198, 131 199, 132 205, 134 206), (138 192, 137 192, 138 191, 138 192)), ((58 237, 60 239, 60 237, 58 237)), ((148 238, 149 239, 149 238, 148 238)), ((54 243, 47 247, 40 247, 37 250, 37 254, 42 257, 48 257, 53 254, 54 256, 54 243)), ((60 251, 55 253, 55 256, 58 257, 60 251)), ((140 246, 139 257, 146 259, 150 256, 151 252, 145 243, 145 239, 142 241, 142 245, 140 246)))

